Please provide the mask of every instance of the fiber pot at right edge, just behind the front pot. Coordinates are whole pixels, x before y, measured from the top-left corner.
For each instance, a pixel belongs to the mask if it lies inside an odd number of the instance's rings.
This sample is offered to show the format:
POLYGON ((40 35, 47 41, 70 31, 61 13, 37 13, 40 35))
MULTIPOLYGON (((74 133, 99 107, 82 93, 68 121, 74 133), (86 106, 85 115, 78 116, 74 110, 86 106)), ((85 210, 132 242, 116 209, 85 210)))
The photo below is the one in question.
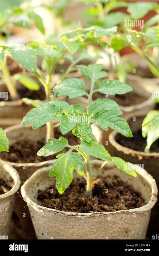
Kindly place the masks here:
MULTIPOLYGON (((125 120, 128 122, 131 131, 134 132, 141 129, 144 117, 145 115, 128 115, 125 118, 125 120), (133 122, 133 117, 136 117, 136 122, 133 122)), ((157 187, 159 189, 159 171, 158 171, 159 153, 154 152, 154 153, 150 153, 150 155, 147 155, 145 154, 145 152, 140 152, 140 151, 123 147, 116 141, 116 139, 118 138, 118 135, 119 133, 116 131, 113 131, 109 135, 109 141, 113 146, 114 155, 121 157, 127 162, 131 162, 134 164, 144 164, 144 168, 156 180, 157 187)), ((159 215, 159 202, 157 202, 157 204, 155 205, 152 211, 152 216, 151 216, 150 225, 148 229, 149 236, 156 234, 155 232, 159 230, 159 223, 157 221, 158 215, 159 215)))

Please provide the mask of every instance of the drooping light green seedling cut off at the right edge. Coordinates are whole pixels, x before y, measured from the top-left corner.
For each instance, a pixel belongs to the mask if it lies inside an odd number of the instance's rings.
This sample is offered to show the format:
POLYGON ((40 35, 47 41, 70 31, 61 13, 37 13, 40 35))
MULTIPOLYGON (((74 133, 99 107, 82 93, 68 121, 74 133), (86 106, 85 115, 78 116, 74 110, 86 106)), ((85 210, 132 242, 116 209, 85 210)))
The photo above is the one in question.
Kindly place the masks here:
POLYGON ((151 145, 159 138, 159 111, 150 110, 143 120, 142 135, 147 137, 145 153, 150 154, 151 145))

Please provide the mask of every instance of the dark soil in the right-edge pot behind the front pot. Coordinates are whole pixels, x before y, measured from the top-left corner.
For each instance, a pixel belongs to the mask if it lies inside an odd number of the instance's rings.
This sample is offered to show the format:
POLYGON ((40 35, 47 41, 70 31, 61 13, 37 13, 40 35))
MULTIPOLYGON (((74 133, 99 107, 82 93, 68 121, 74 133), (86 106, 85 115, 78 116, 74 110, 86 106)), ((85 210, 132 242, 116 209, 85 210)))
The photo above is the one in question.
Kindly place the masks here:
MULTIPOLYGON (((123 147, 144 152, 146 147, 146 138, 142 136, 141 130, 133 132, 133 137, 128 138, 119 134, 116 141, 123 147)), ((159 139, 157 139, 150 148, 150 153, 159 153, 159 139)))

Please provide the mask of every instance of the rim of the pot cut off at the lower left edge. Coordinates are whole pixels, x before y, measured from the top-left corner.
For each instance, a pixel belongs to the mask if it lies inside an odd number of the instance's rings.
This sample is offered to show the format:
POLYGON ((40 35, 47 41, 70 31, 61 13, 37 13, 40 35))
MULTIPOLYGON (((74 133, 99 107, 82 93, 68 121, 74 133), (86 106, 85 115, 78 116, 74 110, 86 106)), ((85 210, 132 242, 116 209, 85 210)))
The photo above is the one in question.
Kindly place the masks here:
POLYGON ((0 166, 2 166, 6 172, 9 173, 10 177, 13 179, 14 185, 13 187, 7 192, 0 195, 0 200, 5 199, 8 196, 12 196, 15 192, 19 189, 21 181, 19 178, 19 174, 15 168, 13 168, 10 164, 4 163, 4 161, 0 160, 0 166))

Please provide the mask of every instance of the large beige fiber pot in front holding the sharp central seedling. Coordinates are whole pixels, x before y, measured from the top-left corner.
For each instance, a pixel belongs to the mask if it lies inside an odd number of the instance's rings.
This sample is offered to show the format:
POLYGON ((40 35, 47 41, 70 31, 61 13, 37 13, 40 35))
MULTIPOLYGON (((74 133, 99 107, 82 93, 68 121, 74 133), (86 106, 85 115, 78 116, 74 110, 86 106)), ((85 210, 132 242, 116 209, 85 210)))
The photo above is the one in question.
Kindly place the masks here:
MULTIPOLYGON (((93 172, 103 161, 92 160, 93 172)), ((144 239, 151 209, 157 200, 156 182, 148 172, 136 168, 137 178, 121 172, 113 164, 105 166, 101 177, 117 175, 141 193, 145 206, 117 212, 70 213, 38 205, 38 190, 45 190, 55 178, 49 177, 50 167, 37 170, 21 187, 21 194, 29 206, 38 239, 144 239)), ((74 177, 77 177, 74 172, 74 177)), ((78 175, 79 177, 79 175, 78 175)))

